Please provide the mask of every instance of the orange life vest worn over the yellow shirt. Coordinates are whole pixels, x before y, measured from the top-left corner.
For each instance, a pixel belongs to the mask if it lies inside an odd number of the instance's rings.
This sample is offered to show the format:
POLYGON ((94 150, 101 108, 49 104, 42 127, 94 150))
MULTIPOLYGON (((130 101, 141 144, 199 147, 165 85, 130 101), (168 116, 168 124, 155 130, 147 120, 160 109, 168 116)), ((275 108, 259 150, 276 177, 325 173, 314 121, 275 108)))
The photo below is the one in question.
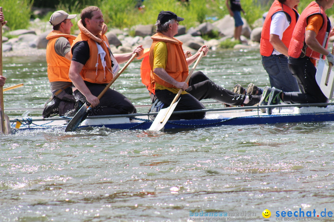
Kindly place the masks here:
POLYGON ((165 70, 176 81, 184 82, 189 74, 189 69, 186 57, 183 53, 182 42, 175 38, 165 36, 159 32, 154 34, 151 38, 153 39, 153 43, 149 52, 151 84, 157 83, 168 88, 176 88, 172 84, 167 83, 154 74, 154 47, 158 42, 166 42, 168 55, 165 70))

